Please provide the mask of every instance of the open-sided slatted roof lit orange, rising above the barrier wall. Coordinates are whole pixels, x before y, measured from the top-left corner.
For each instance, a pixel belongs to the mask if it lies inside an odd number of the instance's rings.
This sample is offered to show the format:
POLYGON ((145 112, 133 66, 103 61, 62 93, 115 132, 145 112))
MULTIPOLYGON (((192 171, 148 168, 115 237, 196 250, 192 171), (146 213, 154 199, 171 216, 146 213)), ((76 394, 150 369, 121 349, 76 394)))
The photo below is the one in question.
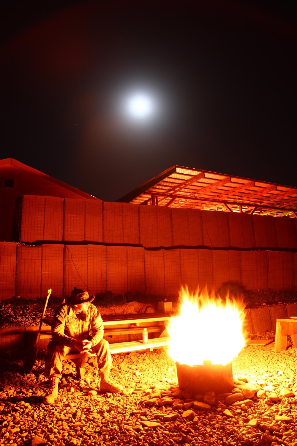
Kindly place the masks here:
POLYGON ((297 188, 178 165, 117 201, 297 218, 297 188))

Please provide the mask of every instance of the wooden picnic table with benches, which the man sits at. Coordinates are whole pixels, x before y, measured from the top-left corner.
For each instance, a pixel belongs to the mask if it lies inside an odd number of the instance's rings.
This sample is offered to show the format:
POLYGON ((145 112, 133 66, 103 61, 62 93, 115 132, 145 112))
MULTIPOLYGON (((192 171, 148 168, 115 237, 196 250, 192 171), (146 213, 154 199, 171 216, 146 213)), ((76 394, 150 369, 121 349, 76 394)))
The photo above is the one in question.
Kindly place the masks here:
MULTIPOLYGON (((166 322, 171 318, 171 314, 163 313, 142 313, 142 314, 117 314, 102 315, 104 324, 104 337, 116 335, 134 335, 141 334, 143 328, 146 327, 148 333, 159 333, 158 337, 148 340, 147 344, 142 344, 142 340, 129 340, 127 342, 110 343, 110 352, 125 353, 129 351, 153 351, 154 348, 163 348, 169 343, 169 336, 166 330, 166 322), (142 326, 140 326, 142 324, 142 326), (151 324, 151 325, 150 325, 151 324)), ((44 318, 43 322, 49 326, 43 326, 40 339, 52 339, 50 325, 53 318, 44 318)), ((94 353, 76 353, 71 352, 65 356, 65 359, 71 359, 76 367, 77 378, 84 379, 84 368, 87 359, 96 356, 94 353)))

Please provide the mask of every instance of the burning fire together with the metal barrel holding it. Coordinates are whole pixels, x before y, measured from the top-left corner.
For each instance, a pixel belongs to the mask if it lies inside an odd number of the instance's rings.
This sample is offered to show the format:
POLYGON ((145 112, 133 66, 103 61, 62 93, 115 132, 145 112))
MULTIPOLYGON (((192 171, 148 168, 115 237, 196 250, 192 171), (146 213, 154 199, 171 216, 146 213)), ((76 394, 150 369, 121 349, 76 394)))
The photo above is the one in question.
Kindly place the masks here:
POLYGON ((179 388, 193 394, 231 392, 232 359, 245 345, 244 304, 207 290, 180 291, 180 311, 167 327, 169 355, 176 363, 179 388))

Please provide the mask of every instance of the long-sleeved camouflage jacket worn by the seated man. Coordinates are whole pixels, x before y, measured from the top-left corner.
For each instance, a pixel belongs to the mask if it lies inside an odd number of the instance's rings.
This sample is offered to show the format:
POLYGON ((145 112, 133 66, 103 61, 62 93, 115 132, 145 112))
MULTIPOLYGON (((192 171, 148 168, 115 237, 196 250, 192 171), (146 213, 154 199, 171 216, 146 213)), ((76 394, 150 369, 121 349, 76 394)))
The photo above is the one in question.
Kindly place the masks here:
POLYGON ((92 347, 103 338, 102 317, 97 308, 90 304, 86 320, 78 319, 73 307, 65 303, 58 306, 53 318, 52 336, 59 344, 73 347, 76 340, 89 339, 92 347))

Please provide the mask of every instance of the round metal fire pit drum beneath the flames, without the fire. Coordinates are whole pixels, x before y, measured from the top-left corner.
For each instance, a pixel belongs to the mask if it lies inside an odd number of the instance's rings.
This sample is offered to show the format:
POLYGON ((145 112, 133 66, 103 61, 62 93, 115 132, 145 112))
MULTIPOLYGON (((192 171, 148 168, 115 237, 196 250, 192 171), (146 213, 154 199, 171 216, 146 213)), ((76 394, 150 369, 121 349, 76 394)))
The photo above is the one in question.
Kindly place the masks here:
POLYGON ((187 365, 176 363, 179 388, 191 390, 193 395, 206 392, 231 392, 234 381, 232 363, 187 365))

